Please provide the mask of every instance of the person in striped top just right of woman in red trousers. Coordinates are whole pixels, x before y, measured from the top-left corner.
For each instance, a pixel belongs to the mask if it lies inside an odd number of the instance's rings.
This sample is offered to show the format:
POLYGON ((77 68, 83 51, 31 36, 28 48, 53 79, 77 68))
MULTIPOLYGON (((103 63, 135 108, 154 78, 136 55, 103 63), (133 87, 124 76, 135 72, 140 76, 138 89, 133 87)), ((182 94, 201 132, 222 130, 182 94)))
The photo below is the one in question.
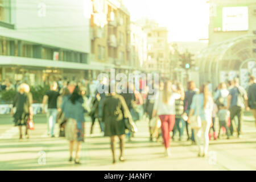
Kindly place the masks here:
POLYGON ((184 113, 185 92, 184 92, 183 86, 180 83, 176 84, 176 92, 181 95, 181 98, 178 100, 175 100, 175 125, 174 125, 174 132, 172 133, 172 137, 174 138, 176 132, 179 131, 179 141, 181 141, 184 127, 185 127, 185 121, 181 117, 182 114, 184 113), (181 122, 181 127, 180 127, 180 122, 181 122))

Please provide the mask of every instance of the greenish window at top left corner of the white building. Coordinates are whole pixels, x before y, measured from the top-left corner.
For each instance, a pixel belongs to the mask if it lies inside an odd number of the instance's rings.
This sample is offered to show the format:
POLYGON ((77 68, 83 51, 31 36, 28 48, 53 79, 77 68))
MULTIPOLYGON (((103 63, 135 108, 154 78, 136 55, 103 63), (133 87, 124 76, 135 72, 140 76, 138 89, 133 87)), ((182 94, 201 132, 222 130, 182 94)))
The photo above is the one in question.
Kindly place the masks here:
POLYGON ((0 0, 0 21, 5 23, 11 23, 11 1, 0 0))

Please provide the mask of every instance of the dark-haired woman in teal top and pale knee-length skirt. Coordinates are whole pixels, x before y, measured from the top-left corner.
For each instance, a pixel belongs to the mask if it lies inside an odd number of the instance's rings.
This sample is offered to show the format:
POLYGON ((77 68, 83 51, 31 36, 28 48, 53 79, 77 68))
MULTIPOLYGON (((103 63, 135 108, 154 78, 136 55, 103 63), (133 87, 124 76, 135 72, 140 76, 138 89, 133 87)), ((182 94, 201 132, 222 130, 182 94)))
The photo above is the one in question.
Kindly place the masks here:
POLYGON ((65 124, 65 137, 69 141, 69 162, 73 161, 73 147, 76 143, 75 164, 81 164, 79 152, 81 142, 84 142, 84 107, 79 86, 76 86, 72 94, 66 96, 61 104, 67 123, 65 124))

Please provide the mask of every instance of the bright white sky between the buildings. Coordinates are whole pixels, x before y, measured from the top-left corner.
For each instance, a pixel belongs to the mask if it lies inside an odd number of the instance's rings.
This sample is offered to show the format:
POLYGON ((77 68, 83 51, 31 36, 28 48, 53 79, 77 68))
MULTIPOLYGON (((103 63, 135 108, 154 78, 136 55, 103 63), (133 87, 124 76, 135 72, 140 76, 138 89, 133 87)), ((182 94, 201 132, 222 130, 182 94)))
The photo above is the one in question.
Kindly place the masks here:
POLYGON ((169 30, 169 41, 199 41, 208 38, 207 0, 123 0, 131 20, 148 17, 169 30))

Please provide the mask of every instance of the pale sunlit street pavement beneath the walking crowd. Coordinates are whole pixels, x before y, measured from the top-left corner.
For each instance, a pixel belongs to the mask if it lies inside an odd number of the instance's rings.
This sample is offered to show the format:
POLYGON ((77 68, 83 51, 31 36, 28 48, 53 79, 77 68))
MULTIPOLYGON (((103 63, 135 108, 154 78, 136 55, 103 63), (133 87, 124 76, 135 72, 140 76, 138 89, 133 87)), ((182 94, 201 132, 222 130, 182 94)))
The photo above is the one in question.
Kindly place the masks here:
MULTIPOLYGON (((138 122, 133 142, 125 145, 126 162, 112 164, 109 138, 100 137, 98 123, 94 135, 82 144, 81 165, 68 163, 68 142, 64 138, 49 138, 46 117, 35 115, 35 130, 30 139, 18 139, 18 128, 10 115, 0 115, 0 170, 256 170, 256 128, 251 113, 245 113, 243 138, 211 140, 210 158, 197 158, 196 145, 184 138, 171 142, 172 155, 164 157, 162 140, 149 142, 148 123, 138 122), (46 163, 40 160, 46 152, 46 163)), ((57 130, 56 130, 57 131, 57 130)), ((184 132, 186 135, 186 133, 184 132)), ((117 143, 117 158, 119 144, 117 143)))

